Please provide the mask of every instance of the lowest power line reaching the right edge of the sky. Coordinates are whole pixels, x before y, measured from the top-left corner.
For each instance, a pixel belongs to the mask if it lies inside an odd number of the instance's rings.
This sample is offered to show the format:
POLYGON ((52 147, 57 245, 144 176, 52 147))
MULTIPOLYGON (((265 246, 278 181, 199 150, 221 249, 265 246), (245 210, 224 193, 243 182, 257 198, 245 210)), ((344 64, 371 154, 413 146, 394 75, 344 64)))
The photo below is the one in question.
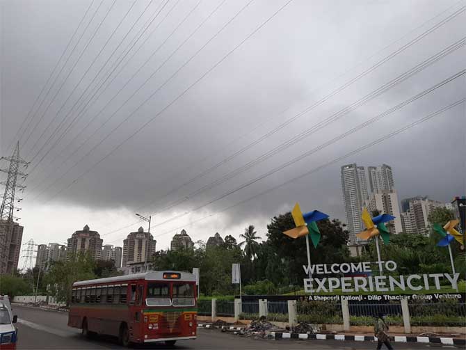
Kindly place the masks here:
MULTIPOLYGON (((373 147, 374 145, 377 145, 378 143, 382 143, 383 141, 386 141, 387 139, 392 138, 393 136, 396 136, 396 135, 398 135, 398 134, 401 134, 402 132, 405 132, 406 130, 408 130, 408 129, 412 128, 412 127, 415 127, 415 126, 417 126, 417 125, 419 125, 419 124, 421 124, 422 122, 426 122, 427 120, 430 120, 430 119, 434 118, 435 116, 438 116, 439 114, 443 113, 444 111, 448 111, 449 109, 452 109, 453 107, 458 106, 459 104, 463 104, 463 103, 465 103, 465 102, 466 102, 466 99, 464 99, 464 98, 463 98, 462 100, 458 100, 458 101, 456 101, 456 102, 453 102, 453 104, 449 104, 448 106, 445 106, 445 107, 443 107, 442 109, 439 109, 439 110, 435 111, 434 113, 431 113, 431 114, 429 114, 428 116, 425 116, 424 118, 421 118, 421 119, 419 119, 419 120, 416 120, 415 122, 412 122, 412 123, 410 123, 410 124, 408 124, 408 125, 405 125, 405 127, 401 127, 401 128, 399 128, 399 129, 396 129, 394 132, 391 132, 391 133, 389 133, 389 134, 387 134, 387 135, 385 135, 385 136, 383 136, 383 137, 381 137, 381 138, 378 138, 378 139, 376 139, 375 141, 372 141, 371 143, 367 143, 366 145, 363 145, 363 146, 360 147, 360 148, 357 148, 357 149, 355 149, 355 150, 353 150, 353 151, 351 151, 351 152, 348 152, 348 153, 342 155, 341 157, 337 157, 337 158, 335 158, 335 159, 332 159, 332 161, 328 161, 327 163, 322 164, 321 166, 318 166, 318 167, 316 167, 316 168, 313 168, 312 170, 308 170, 307 172, 305 172, 305 173, 303 173, 303 174, 301 174, 301 175, 299 175, 299 176, 297 176, 297 177, 294 177, 294 178, 292 178, 292 179, 290 179, 290 180, 287 180, 287 181, 285 181, 285 182, 282 182, 281 184, 278 184, 277 186, 273 186, 273 187, 271 187, 270 189, 267 189, 266 191, 262 191, 262 192, 260 192, 260 193, 257 193, 256 195, 251 196, 251 197, 249 197, 249 198, 246 198, 245 200, 241 200, 241 202, 238 202, 238 203, 236 203, 236 204, 234 204, 234 205, 230 205, 230 207, 226 207, 225 209, 221 209, 221 210, 219 210, 219 211, 217 211, 217 212, 215 212, 215 213, 209 214, 208 216, 204 216, 204 217, 202 217, 202 218, 196 219, 195 221, 191 221, 191 224, 192 224, 192 223, 199 222, 199 221, 202 221, 202 220, 205 220, 206 218, 210 218, 210 217, 212 217, 212 216, 214 216, 214 215, 216 215, 216 214, 220 214, 220 213, 222 213, 222 212, 226 212, 227 210, 230 210, 230 209, 232 209, 232 208, 234 208, 234 207, 237 207, 237 206, 239 206, 239 205, 242 205, 242 204, 244 204, 244 203, 246 203, 246 202, 248 202, 248 201, 250 201, 250 200, 252 200, 252 199, 254 199, 254 198, 257 198, 257 197, 259 197, 259 196, 263 196, 263 195, 266 194, 266 193, 270 193, 270 192, 272 192, 272 191, 275 191, 276 189, 279 189, 280 187, 285 186, 286 184, 289 184, 289 183, 291 183, 291 182, 295 182, 295 181, 297 181, 297 180, 302 179, 303 177, 307 177, 307 176, 309 176, 309 175, 312 175, 313 173, 316 173, 317 171, 322 170, 323 168, 326 168, 326 167, 328 167, 328 166, 331 166, 332 164, 336 164, 336 163, 338 163, 339 161, 342 161, 342 160, 344 160, 344 159, 346 159, 346 158, 348 158, 348 157, 353 156, 354 154, 357 154, 357 153, 359 153, 359 152, 362 152, 363 150, 367 150, 367 148, 371 148, 371 147, 373 147)), ((185 227, 185 226, 186 226, 186 225, 181 226, 181 227, 179 227, 179 228, 175 228, 174 230, 169 230, 169 231, 163 232, 163 233, 161 233, 161 234, 155 234, 154 237, 160 237, 160 236, 162 236, 163 234, 168 234, 168 233, 170 233, 170 232, 174 232, 174 231, 179 230, 180 228, 183 228, 183 227, 185 227)), ((120 240, 121 240, 121 239, 115 239, 115 241, 120 241, 120 240)), ((112 242, 114 242, 114 241, 110 241, 109 243, 112 243, 112 242)))

